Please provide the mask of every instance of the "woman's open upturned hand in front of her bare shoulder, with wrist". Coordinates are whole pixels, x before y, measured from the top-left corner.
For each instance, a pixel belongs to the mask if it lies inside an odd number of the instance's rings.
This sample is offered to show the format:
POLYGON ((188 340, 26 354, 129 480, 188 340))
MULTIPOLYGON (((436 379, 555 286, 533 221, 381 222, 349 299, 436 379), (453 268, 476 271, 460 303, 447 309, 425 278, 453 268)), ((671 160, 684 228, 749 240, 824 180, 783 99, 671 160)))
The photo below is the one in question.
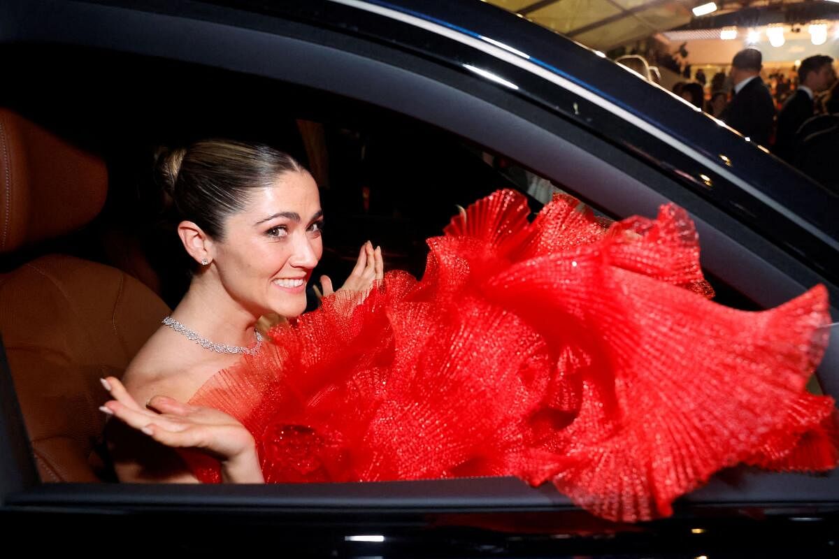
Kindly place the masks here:
POLYGON ((221 462, 227 482, 263 483, 253 436, 242 423, 211 407, 190 406, 168 396, 154 396, 140 406, 117 378, 102 379, 113 400, 99 408, 172 448, 195 448, 221 462))

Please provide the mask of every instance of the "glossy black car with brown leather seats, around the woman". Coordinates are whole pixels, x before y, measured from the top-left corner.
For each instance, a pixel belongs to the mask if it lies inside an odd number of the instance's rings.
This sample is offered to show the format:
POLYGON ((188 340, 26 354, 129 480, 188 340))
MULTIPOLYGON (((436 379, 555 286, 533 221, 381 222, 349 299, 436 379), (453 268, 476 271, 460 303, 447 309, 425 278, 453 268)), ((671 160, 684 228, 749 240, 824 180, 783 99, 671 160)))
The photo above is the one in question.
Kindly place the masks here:
MULTIPOLYGON (((836 193, 722 122, 479 2, 6 0, 0 60, 0 522, 10 549, 836 555, 834 472, 732 468, 670 518, 618 524, 518 479, 155 486, 102 483, 107 467, 89 464, 106 399, 96 379, 119 374, 188 279, 148 177, 154 146, 207 135, 286 146, 320 183, 333 277, 367 238, 389 265, 421 274, 424 240, 456 204, 514 188, 536 210, 561 191, 609 219, 675 202, 696 222, 717 300, 769 308, 821 283, 835 319, 836 193), (35 185, 23 199, 14 157, 35 185), (81 269, 94 279, 73 279, 71 291, 65 277, 81 269), (29 292, 36 284, 50 295, 29 292), (90 329, 63 327, 65 317, 90 329), (62 469, 68 456, 76 469, 62 469)), ((839 329, 830 332, 810 388, 836 396, 839 329)))

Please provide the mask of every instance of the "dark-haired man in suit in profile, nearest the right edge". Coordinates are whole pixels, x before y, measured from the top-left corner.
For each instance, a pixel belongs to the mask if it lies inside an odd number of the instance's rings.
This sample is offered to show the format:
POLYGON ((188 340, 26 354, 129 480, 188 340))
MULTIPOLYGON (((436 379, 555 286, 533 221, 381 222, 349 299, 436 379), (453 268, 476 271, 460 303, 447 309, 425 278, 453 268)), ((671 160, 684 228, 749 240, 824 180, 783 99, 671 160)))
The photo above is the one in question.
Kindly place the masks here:
POLYGON ((778 113, 778 133, 775 136, 773 152, 790 163, 795 158, 795 132, 805 120, 813 116, 813 94, 825 91, 836 75, 833 59, 816 54, 801 60, 798 67, 798 89, 784 103, 778 113))

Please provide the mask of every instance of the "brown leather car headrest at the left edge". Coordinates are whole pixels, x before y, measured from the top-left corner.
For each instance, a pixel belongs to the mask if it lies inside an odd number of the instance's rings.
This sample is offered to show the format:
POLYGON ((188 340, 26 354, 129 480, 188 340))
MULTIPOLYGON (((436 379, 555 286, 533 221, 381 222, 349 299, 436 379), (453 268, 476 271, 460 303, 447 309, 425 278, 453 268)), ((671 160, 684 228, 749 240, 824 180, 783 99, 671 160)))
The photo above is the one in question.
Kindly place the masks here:
POLYGON ((106 194, 100 158, 0 107, 0 254, 86 225, 106 194))

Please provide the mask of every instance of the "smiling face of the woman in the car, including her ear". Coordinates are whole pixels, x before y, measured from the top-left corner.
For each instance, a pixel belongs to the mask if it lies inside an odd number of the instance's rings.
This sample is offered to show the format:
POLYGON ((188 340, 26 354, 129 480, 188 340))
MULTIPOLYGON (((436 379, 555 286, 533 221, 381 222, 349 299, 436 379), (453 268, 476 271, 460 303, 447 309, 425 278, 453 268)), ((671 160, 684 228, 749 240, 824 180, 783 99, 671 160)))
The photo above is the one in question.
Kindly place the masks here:
POLYGON ((294 317, 306 307, 305 287, 323 253, 317 184, 309 173, 284 173, 253 189, 245 210, 225 223, 213 263, 234 301, 254 316, 294 317))

